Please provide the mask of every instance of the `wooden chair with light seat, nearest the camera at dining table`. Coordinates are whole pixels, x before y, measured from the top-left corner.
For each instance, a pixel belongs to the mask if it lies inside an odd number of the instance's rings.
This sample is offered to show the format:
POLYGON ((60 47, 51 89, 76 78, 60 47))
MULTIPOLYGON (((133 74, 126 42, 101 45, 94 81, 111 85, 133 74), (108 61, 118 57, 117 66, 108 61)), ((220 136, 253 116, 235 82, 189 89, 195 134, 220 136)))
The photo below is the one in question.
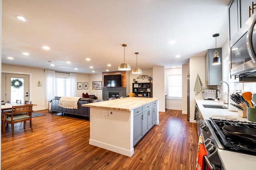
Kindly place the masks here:
POLYGON ((30 128, 31 131, 33 131, 32 128, 32 104, 27 104, 27 105, 21 105, 21 106, 12 106, 12 113, 5 112, 3 115, 3 122, 2 122, 2 129, 3 129, 3 134, 5 134, 5 123, 11 124, 12 127, 12 137, 14 137, 14 123, 22 122, 24 123, 23 128, 26 129, 26 121, 30 121, 30 128), (19 116, 14 116, 14 114, 18 113, 26 113, 25 115, 19 115, 19 116), (8 117, 7 117, 8 115, 8 117))

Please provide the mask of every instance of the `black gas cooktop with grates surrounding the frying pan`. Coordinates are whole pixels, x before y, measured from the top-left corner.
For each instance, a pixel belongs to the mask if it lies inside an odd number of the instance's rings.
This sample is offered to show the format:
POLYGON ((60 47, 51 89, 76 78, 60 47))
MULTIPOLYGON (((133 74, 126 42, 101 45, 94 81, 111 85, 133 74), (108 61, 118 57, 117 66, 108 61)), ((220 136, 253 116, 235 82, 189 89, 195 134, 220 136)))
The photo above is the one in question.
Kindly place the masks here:
POLYGON ((222 129, 222 127, 224 126, 240 126, 256 129, 256 123, 212 118, 209 118, 209 122, 210 125, 212 126, 212 129, 216 133, 217 138, 222 144, 224 150, 231 150, 234 152, 256 155, 256 145, 248 143, 247 141, 241 140, 239 138, 230 138, 224 133, 224 130, 222 129))

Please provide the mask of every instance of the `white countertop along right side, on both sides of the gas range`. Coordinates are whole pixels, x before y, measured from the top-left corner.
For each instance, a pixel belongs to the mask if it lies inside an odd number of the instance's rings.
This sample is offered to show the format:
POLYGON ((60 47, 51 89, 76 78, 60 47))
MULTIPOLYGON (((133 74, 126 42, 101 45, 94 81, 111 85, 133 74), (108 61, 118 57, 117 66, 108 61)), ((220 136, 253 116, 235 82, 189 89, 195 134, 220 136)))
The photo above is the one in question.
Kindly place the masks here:
MULTIPOLYGON (((205 108, 203 104, 212 104, 212 105, 222 105, 223 102, 214 102, 214 100, 203 100, 196 99, 196 103, 204 119, 209 119, 213 115, 229 115, 236 116, 237 120, 248 121, 247 118, 242 118, 238 116, 236 111, 228 111, 228 109, 212 109, 205 108)), ((220 118, 224 119, 224 118, 220 118)), ((249 121, 250 122, 250 121, 249 121)), ((223 164, 225 170, 252 170, 256 169, 256 156, 242 154, 238 152, 232 152, 228 150, 218 150, 218 155, 223 164)))

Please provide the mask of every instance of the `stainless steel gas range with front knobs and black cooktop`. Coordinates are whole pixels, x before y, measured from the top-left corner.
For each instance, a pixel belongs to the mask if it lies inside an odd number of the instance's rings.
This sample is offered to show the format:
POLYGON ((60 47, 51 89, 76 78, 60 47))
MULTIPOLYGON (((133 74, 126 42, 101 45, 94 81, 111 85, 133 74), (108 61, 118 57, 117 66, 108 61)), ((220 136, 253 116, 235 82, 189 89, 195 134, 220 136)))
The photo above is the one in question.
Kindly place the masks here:
POLYGON ((222 170, 218 149, 256 156, 256 123, 212 119, 200 121, 208 167, 222 170))

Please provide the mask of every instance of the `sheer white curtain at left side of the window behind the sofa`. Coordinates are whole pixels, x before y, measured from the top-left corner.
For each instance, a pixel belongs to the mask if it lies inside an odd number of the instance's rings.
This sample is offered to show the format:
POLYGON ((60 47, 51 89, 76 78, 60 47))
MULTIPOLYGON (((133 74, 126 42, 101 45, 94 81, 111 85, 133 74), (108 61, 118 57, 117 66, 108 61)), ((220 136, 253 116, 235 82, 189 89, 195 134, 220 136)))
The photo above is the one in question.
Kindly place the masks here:
POLYGON ((46 96, 46 106, 48 106, 48 101, 54 98, 55 92, 55 71, 45 70, 45 96, 46 96))

